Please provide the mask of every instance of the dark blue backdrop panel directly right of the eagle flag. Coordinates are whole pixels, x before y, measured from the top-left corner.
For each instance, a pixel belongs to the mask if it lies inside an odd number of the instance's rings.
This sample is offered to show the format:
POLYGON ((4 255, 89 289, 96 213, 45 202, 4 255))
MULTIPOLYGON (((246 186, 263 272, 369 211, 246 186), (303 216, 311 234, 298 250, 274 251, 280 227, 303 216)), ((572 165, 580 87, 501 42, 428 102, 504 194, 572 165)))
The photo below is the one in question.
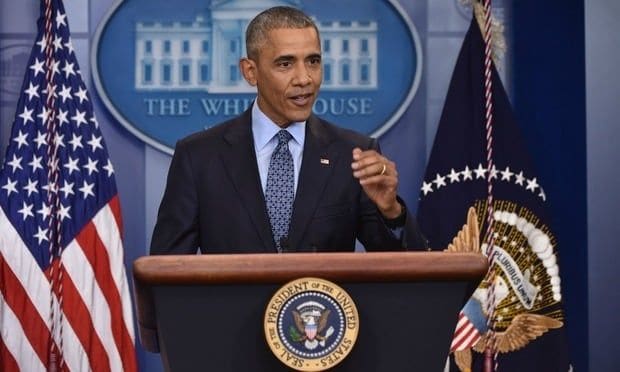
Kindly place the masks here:
POLYGON ((513 105, 551 206, 571 358, 587 371, 584 5, 514 1, 512 16, 513 105))

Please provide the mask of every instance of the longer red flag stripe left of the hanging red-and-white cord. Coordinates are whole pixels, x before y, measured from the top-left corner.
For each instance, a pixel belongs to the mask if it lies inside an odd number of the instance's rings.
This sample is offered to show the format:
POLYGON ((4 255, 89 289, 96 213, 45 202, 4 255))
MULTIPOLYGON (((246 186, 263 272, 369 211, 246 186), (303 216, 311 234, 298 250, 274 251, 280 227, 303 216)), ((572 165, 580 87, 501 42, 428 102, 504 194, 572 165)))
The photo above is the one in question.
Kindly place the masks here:
MULTIPOLYGON (((50 331, 2 255, 0 255, 0 270, 2 296, 19 319, 22 329, 39 359, 47 365, 51 339, 50 331)), ((32 295, 36 296, 37 294, 32 293, 32 295)))

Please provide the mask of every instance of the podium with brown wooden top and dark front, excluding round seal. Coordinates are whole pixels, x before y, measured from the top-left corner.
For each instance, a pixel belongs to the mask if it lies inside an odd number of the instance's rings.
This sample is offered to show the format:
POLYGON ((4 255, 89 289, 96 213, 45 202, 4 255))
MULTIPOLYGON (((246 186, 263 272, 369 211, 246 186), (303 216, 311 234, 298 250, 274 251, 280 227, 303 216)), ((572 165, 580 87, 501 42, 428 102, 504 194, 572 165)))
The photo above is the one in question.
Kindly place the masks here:
POLYGON ((167 371, 290 371, 265 341, 273 294, 301 277, 344 288, 359 334, 334 371, 441 371, 461 307, 487 271, 474 253, 148 256, 134 263, 140 340, 167 371))

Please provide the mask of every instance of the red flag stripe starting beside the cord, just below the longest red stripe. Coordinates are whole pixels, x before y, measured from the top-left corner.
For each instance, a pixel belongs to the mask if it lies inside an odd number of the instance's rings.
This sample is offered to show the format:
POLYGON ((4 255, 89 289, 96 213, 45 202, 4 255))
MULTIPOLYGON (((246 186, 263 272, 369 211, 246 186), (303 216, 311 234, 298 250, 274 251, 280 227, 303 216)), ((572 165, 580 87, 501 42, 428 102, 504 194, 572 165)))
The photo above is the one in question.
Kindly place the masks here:
MULTIPOLYGON (((66 271, 64 274, 62 281, 63 314, 86 350, 90 367, 101 372, 110 371, 110 358, 97 331, 93 328, 93 320, 88 308, 82 301, 73 280, 66 275, 66 271)), ((56 293, 56 295, 59 294, 56 293)))

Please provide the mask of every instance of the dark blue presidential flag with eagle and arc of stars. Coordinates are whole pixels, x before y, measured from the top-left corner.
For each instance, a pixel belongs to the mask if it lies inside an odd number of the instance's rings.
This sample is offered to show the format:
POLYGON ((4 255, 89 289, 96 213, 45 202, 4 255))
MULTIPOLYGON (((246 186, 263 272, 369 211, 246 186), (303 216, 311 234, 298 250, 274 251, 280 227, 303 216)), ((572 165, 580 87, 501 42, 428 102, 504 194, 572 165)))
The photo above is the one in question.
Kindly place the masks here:
POLYGON ((493 350, 487 353, 487 369, 497 363, 501 371, 568 371, 558 246, 545 213, 547 196, 492 64, 492 132, 487 136, 484 61, 485 43, 473 17, 418 209, 422 230, 435 248, 487 254, 486 236, 493 238, 489 275, 455 319, 453 368, 480 371, 485 350, 493 350), (493 187, 492 223, 487 177, 493 187))

